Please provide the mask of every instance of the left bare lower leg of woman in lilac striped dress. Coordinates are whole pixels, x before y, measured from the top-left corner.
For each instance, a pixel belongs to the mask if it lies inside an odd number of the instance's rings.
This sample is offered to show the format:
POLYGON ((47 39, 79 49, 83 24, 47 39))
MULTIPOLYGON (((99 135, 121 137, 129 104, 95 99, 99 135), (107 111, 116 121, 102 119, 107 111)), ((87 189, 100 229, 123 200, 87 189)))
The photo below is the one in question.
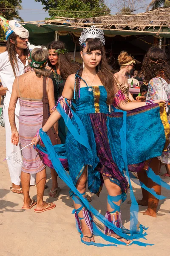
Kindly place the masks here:
POLYGON ((21 172, 21 184, 24 195, 23 208, 27 208, 31 204, 31 198, 29 196, 29 184, 30 184, 30 174, 26 172, 21 172))

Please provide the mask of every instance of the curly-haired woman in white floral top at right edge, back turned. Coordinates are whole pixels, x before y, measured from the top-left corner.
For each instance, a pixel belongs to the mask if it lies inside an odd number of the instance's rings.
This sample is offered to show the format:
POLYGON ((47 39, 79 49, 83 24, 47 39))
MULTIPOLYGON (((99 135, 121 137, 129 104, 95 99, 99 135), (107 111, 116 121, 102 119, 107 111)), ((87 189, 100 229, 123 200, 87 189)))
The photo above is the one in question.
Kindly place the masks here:
MULTIPOLYGON (((167 62, 166 53, 158 48, 151 47, 144 57, 142 63, 141 73, 144 75, 145 81, 148 83, 147 98, 149 100, 163 99, 170 102, 170 65, 167 62)), ((169 106, 168 106, 169 107, 169 106)), ((166 108, 167 114, 169 114, 169 108, 166 108)), ((170 148, 168 146, 167 151, 164 151, 161 156, 154 157, 151 160, 150 167, 159 175, 160 164, 166 164, 167 173, 165 176, 170 176, 170 148)), ((148 185, 150 188, 154 188, 158 195, 161 195, 161 186, 153 183, 148 179, 145 171, 139 174, 140 180, 148 185)), ((156 210, 158 207, 159 199, 148 193, 145 189, 142 189, 142 200, 139 200, 140 205, 147 206, 146 215, 156 217, 156 210)))

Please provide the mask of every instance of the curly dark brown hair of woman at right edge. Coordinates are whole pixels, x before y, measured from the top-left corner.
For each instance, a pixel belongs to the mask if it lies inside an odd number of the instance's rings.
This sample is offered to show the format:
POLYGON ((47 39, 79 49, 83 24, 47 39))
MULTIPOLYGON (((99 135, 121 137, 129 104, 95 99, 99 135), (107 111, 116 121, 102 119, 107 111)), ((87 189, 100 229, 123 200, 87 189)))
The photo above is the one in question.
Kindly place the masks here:
POLYGON ((170 83, 170 65, 167 62, 166 53, 159 47, 150 47, 142 63, 141 74, 145 82, 149 82, 156 76, 164 78, 170 83))

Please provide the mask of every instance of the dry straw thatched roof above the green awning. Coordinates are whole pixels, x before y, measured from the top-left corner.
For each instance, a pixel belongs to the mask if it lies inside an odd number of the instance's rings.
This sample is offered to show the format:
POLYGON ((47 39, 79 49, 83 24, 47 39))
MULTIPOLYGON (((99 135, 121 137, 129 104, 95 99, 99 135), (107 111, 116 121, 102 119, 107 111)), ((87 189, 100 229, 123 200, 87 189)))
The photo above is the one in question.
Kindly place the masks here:
POLYGON ((101 29, 146 31, 147 29, 167 29, 170 33, 170 8, 159 8, 153 11, 134 15, 111 15, 91 17, 86 19, 74 19, 56 17, 54 20, 45 20, 46 24, 66 25, 75 29, 95 25, 101 29))

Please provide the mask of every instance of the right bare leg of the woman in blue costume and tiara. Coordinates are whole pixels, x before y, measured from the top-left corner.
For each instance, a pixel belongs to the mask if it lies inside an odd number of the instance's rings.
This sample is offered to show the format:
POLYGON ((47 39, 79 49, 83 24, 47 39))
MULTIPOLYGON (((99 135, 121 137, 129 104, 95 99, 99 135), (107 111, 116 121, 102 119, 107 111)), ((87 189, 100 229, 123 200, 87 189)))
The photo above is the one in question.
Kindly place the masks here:
MULTIPOLYGON (((106 186, 106 189, 108 191, 108 194, 111 195, 111 196, 117 196, 117 195, 121 195, 121 189, 118 185, 116 185, 115 183, 111 182, 110 179, 106 176, 103 176, 103 179, 104 179, 104 183, 105 183, 105 186, 106 186)), ((120 206, 122 200, 119 200, 118 202, 114 202, 114 204, 120 206)), ((108 212, 112 212, 113 209, 111 208, 111 205, 109 203, 107 203, 107 209, 108 209, 108 212)), ((113 221, 113 214, 111 214, 111 220, 113 221)), ((115 215, 115 221, 117 221, 116 219, 116 215, 115 215)), ((116 234, 111 234, 111 236, 115 237, 115 238, 119 238, 120 236, 116 235, 116 234)), ((119 239, 120 241, 126 243, 126 244, 129 244, 130 241, 127 241, 126 239, 122 238, 122 239, 119 239)))

